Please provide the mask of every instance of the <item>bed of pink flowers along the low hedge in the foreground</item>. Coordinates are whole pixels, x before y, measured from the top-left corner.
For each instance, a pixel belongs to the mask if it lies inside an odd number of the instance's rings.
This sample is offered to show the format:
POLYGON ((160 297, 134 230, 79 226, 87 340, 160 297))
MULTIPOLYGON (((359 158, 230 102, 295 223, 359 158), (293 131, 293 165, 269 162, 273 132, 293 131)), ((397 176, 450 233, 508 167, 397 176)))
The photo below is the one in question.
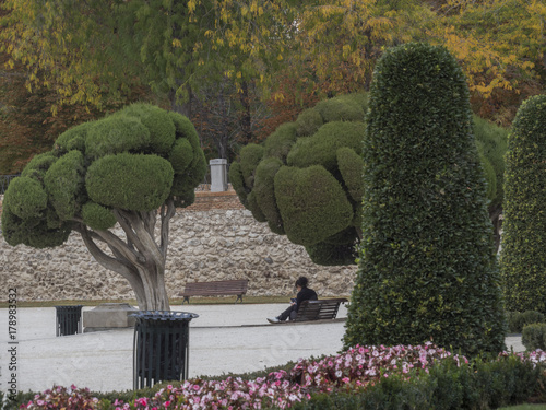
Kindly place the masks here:
MULTIPOLYGON (((508 356, 503 352, 499 356, 508 356)), ((522 361, 546 363, 546 352, 519 353, 522 361)), ((261 409, 275 406, 290 408, 295 402, 308 400, 310 391, 361 389, 390 375, 427 372, 441 360, 467 363, 464 356, 451 354, 431 343, 424 345, 355 347, 346 352, 320 361, 300 360, 289 372, 273 372, 256 380, 227 377, 224 380, 186 380, 177 386, 162 388, 153 397, 134 402, 114 402, 116 410, 159 409, 261 409)), ((408 375, 410 376, 410 375, 408 375)), ((25 409, 97 409, 99 400, 88 389, 54 387, 23 405, 25 409)))

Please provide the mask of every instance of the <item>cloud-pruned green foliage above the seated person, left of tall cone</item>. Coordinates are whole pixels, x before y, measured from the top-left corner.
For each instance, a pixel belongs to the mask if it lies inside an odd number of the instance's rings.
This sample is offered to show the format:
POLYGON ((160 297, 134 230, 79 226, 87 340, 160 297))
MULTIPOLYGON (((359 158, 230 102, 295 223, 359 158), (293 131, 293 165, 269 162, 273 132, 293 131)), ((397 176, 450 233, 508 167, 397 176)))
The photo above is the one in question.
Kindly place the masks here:
POLYGON ((302 112, 262 144, 246 145, 230 181, 261 222, 321 265, 348 265, 360 232, 367 97, 342 95, 302 112))

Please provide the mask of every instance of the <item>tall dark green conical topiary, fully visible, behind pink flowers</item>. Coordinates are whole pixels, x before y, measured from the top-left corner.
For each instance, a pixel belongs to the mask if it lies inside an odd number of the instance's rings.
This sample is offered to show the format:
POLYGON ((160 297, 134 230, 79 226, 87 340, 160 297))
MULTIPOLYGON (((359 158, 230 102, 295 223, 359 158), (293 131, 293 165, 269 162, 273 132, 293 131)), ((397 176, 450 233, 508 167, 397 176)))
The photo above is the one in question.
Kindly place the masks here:
POLYGON ((359 269, 345 345, 505 345, 501 288, 464 74, 442 47, 388 50, 364 141, 359 269))

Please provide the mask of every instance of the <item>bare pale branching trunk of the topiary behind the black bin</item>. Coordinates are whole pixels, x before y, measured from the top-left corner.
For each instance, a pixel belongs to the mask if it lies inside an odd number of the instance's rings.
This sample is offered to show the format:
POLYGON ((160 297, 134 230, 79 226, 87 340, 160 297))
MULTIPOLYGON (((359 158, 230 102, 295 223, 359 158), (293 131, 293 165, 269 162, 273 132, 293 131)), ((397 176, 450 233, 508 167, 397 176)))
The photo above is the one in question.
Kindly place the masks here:
POLYGON ((169 221, 175 214, 174 202, 169 200, 158 212, 115 209, 114 214, 126 234, 124 238, 109 230, 92 231, 82 221, 76 221, 75 230, 99 265, 127 279, 134 291, 139 309, 170 311, 165 288, 165 262, 169 221), (161 226, 157 241, 155 225, 158 215, 161 226), (109 253, 97 243, 105 244, 109 253))

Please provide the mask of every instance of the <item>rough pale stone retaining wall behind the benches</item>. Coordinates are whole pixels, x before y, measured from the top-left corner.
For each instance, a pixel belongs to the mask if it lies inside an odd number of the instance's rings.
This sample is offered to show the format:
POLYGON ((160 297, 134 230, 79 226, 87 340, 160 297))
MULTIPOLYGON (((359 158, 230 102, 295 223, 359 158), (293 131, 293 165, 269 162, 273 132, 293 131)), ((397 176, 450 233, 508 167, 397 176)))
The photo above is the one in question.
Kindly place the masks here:
MULTIPOLYGON (((198 192, 170 222, 166 283, 176 297, 186 282, 249 279, 248 295, 289 295, 307 276, 319 296, 349 295, 356 267, 321 267, 302 246, 273 234, 245 210, 235 192, 198 192)), ((0 202, 1 203, 1 202, 0 202)), ((78 234, 57 248, 9 246, 0 237, 0 283, 20 301, 133 298, 128 282, 100 267, 78 234)))

